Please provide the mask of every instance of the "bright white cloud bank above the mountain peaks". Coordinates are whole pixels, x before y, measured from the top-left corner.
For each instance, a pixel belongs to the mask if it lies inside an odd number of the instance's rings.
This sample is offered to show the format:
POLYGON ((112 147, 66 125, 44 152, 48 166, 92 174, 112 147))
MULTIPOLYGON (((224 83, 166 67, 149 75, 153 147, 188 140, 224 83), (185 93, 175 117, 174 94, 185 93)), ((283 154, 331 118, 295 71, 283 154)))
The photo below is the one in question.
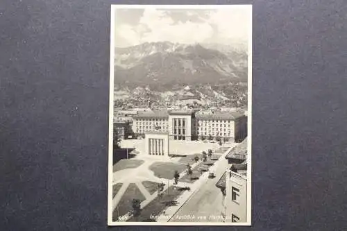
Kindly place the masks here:
MULTIPOLYGON (((194 10, 186 10, 185 17, 197 17, 194 10)), ((146 8, 136 25, 121 24, 117 37, 126 45, 143 42, 170 41, 179 43, 221 42, 246 40, 250 23, 249 12, 242 9, 209 10, 196 20, 174 20, 169 10, 146 8)))

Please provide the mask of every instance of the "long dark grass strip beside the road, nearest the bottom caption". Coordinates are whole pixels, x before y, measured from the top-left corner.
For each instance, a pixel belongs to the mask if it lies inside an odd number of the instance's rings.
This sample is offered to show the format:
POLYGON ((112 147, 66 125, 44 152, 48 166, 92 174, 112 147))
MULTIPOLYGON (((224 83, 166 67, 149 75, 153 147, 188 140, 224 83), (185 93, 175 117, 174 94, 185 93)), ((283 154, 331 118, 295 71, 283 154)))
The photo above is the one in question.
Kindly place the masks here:
POLYGON ((154 221, 151 215, 158 216, 161 212, 170 206, 176 206, 176 199, 183 194, 184 190, 180 187, 170 186, 169 190, 165 190, 162 196, 152 200, 137 217, 131 217, 128 221, 154 221), (169 191, 169 194, 167 193, 169 191))

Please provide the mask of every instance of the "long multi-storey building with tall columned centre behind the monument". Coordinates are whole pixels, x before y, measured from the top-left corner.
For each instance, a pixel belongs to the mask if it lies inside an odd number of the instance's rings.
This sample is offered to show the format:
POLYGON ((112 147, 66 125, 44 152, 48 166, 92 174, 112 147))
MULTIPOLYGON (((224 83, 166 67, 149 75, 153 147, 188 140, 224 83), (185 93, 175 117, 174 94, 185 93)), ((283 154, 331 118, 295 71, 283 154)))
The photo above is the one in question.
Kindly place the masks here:
POLYGON ((158 110, 133 116, 133 132, 169 132, 169 139, 214 139, 240 142, 247 135, 247 117, 241 112, 196 112, 194 110, 158 110))

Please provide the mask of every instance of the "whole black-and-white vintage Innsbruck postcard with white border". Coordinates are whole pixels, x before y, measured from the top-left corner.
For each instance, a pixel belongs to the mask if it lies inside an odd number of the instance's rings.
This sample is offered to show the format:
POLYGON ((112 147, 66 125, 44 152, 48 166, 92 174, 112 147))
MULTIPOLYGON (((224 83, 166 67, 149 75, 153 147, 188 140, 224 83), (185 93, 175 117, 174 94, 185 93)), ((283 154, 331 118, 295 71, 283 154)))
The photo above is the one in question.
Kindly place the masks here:
POLYGON ((108 225, 251 225, 252 6, 111 8, 108 225))

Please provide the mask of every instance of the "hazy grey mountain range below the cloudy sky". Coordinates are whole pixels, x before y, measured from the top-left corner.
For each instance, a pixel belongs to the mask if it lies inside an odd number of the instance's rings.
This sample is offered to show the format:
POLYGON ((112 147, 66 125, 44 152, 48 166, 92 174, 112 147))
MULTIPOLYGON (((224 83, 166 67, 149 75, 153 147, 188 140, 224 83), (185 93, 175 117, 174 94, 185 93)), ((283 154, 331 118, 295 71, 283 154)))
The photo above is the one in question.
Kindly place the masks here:
POLYGON ((115 86, 170 89, 174 85, 247 82, 247 52, 220 44, 146 42, 115 48, 115 86))

